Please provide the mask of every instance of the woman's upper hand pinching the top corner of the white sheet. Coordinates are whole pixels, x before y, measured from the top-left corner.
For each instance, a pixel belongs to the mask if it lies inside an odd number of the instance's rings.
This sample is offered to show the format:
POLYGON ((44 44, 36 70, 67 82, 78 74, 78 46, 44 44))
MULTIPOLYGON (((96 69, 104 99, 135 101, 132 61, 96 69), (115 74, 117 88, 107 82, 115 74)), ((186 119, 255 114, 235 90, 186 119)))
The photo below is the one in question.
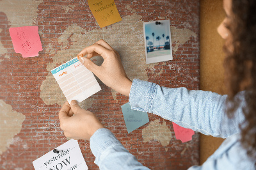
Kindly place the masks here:
POLYGON ((84 48, 77 56, 87 55, 87 57, 78 57, 83 65, 93 72, 106 86, 115 89, 129 97, 132 81, 127 77, 124 67, 121 63, 120 56, 115 49, 113 49, 104 40, 99 40, 93 45, 84 48), (93 56, 102 56, 104 59, 102 65, 97 66, 90 58, 93 56))

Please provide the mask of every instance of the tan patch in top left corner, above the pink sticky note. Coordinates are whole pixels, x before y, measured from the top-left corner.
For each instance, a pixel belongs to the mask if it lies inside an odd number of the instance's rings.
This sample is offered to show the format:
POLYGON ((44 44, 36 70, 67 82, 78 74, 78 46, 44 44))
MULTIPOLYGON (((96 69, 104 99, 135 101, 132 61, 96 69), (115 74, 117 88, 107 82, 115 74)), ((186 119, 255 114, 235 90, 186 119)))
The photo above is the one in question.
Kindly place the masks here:
POLYGON ((2 0, 0 11, 11 22, 11 27, 33 26, 36 24, 37 7, 43 0, 2 0))

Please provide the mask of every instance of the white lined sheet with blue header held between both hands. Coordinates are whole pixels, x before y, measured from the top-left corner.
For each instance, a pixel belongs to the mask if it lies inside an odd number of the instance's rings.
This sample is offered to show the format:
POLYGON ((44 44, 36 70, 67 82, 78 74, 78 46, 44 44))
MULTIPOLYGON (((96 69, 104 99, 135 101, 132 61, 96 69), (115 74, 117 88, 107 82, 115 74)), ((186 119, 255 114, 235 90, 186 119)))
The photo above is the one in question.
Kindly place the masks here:
POLYGON ((77 59, 71 59, 51 70, 68 103, 71 100, 82 102, 100 91, 100 85, 94 75, 77 59))

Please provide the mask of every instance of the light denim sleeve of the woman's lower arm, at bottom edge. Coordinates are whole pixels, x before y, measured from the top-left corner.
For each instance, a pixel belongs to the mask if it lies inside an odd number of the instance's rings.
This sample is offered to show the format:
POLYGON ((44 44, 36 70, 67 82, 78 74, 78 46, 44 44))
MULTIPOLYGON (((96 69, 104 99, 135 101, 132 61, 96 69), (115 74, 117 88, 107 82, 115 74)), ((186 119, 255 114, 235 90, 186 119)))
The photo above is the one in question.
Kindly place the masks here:
POLYGON ((90 148, 100 169, 148 169, 106 128, 100 128, 92 135, 90 148))

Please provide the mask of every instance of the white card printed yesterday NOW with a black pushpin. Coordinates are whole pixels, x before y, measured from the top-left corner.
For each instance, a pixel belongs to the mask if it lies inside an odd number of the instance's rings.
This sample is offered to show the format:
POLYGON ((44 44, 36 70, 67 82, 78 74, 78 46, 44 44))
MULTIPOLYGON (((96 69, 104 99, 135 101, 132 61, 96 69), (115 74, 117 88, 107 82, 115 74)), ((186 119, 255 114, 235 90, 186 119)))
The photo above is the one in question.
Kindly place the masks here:
POLYGON ((54 153, 53 150, 44 156, 33 161, 35 170, 87 170, 79 144, 76 140, 70 139, 67 143, 61 144, 54 153))

